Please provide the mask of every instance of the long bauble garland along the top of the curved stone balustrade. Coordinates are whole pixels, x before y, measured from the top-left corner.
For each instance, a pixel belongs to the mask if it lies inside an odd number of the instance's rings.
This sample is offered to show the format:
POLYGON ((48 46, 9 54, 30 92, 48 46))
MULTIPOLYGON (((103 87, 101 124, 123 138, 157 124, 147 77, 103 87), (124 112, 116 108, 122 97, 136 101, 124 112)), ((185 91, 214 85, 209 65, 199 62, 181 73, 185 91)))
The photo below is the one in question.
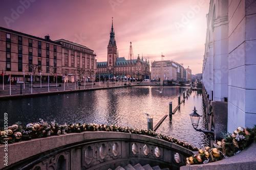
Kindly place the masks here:
POLYGON ((31 140, 35 138, 48 137, 53 135, 62 135, 67 133, 80 133, 85 131, 110 131, 110 132, 125 132, 130 134, 148 135, 156 138, 160 138, 169 142, 174 142, 192 151, 198 151, 198 148, 188 144, 184 141, 179 141, 176 138, 162 135, 154 131, 147 131, 145 129, 132 129, 129 127, 121 127, 117 125, 98 125, 98 124, 70 124, 70 125, 58 125, 57 123, 51 122, 48 124, 44 120, 39 119, 39 123, 28 124, 26 127, 15 123, 6 129, 1 129, 0 144, 8 140, 8 143, 19 142, 24 140, 31 140))

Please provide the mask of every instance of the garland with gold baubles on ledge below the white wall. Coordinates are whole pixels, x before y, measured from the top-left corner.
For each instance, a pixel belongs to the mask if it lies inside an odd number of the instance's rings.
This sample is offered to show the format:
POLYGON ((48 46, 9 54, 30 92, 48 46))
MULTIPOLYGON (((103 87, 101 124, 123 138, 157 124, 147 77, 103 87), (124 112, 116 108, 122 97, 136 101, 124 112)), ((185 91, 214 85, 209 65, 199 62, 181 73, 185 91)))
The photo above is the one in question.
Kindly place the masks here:
POLYGON ((215 162, 238 154, 256 141, 256 125, 252 129, 239 127, 233 134, 223 134, 222 137, 222 141, 214 144, 213 148, 205 147, 197 155, 186 158, 186 164, 215 162))

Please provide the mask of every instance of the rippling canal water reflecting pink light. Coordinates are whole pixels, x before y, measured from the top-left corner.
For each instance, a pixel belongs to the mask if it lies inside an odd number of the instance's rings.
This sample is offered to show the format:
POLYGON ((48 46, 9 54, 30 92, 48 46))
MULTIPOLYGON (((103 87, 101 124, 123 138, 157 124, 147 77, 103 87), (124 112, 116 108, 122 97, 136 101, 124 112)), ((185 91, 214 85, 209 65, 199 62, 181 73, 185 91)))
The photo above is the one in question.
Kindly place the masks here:
MULTIPOLYGON (((153 117, 154 127, 169 113, 169 102, 173 102, 174 109, 178 104, 178 95, 182 99, 185 90, 185 86, 143 86, 9 100, 0 102, 0 113, 8 113, 10 126, 16 122, 23 125, 36 123, 42 118, 47 122, 55 120, 59 125, 96 123, 147 129, 145 113, 153 117), (156 90, 162 90, 162 93, 156 90)), ((206 136, 195 131, 191 125, 189 114, 194 106, 200 115, 204 115, 202 94, 197 91, 193 91, 172 119, 168 116, 156 132, 195 147, 207 145, 206 136)), ((198 128, 206 128, 204 116, 198 128)))

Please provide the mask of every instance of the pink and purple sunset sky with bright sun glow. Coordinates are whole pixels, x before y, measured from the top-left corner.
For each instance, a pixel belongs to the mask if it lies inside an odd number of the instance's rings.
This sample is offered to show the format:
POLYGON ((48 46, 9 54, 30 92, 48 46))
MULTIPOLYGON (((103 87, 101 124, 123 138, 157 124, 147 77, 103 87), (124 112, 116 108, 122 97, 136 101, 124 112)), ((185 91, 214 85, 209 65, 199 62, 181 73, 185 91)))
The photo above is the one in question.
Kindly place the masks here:
POLYGON ((174 60, 202 72, 210 0, 2 0, 0 27, 91 48, 106 61, 112 26, 119 57, 174 60))

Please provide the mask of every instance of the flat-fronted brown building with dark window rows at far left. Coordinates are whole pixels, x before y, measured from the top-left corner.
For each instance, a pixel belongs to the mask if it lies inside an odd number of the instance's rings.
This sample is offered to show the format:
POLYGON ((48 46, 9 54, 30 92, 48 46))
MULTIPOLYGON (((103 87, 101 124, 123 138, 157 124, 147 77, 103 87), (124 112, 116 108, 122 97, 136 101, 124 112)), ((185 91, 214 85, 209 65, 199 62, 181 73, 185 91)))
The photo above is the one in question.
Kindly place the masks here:
MULTIPOLYGON (((61 67, 61 45, 44 38, 0 27, 0 69, 4 70, 5 83, 11 74, 11 80, 17 83, 30 82, 31 74, 34 82, 61 80, 61 71, 54 72, 61 67), (25 80, 24 80, 25 75, 25 80)), ((1 79, 3 83, 3 79, 1 79)))

